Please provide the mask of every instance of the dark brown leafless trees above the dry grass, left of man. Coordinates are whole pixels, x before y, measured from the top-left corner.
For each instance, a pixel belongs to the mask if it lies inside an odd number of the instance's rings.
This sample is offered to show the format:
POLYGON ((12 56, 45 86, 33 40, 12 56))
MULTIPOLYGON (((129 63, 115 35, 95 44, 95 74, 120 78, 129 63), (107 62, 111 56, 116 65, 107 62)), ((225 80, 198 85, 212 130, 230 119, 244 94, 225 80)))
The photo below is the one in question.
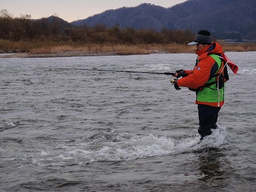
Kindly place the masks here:
POLYGON ((13 18, 6 10, 0 12, 0 39, 13 42, 51 40, 77 44, 186 44, 194 37, 195 33, 190 30, 122 29, 118 24, 112 28, 106 28, 104 24, 76 27, 54 16, 33 20, 31 15, 13 18))

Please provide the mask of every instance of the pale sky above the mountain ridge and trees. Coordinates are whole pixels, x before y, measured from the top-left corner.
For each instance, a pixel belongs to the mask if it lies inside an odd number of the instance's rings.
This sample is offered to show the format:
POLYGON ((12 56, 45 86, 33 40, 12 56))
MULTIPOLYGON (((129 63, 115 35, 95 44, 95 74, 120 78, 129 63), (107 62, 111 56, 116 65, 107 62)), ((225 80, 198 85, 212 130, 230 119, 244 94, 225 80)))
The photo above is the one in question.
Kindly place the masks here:
POLYGON ((21 14, 31 15, 31 19, 40 19, 56 15, 72 22, 124 6, 152 3, 168 8, 185 1, 187 0, 0 0, 0 10, 7 10, 13 17, 20 17, 21 14))

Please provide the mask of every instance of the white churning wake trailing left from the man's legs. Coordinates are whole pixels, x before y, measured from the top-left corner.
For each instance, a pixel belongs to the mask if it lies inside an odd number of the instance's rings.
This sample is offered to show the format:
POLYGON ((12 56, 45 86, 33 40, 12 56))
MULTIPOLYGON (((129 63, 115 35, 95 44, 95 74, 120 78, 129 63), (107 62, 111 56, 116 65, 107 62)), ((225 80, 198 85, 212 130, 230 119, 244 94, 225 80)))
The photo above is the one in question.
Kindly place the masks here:
POLYGON ((116 131, 99 132, 88 138, 67 141, 53 150, 43 150, 33 160, 39 165, 88 164, 100 161, 131 161, 153 156, 171 156, 225 143, 227 131, 219 127, 200 141, 199 135, 180 140, 166 136, 138 136, 116 131))

